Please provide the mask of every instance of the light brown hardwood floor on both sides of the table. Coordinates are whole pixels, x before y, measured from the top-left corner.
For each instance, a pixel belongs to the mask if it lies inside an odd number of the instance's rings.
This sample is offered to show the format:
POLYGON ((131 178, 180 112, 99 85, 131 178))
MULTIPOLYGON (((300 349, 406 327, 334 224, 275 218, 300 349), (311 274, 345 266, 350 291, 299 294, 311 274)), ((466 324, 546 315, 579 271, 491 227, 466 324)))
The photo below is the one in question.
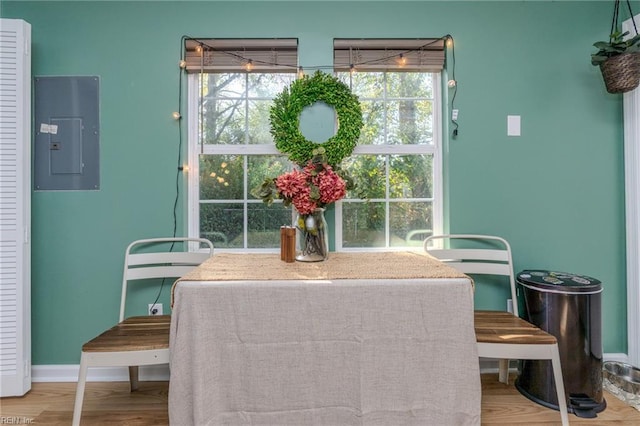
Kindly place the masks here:
MULTIPOLYGON (((550 426, 560 424, 560 414, 535 404, 513 386, 499 383, 495 374, 482 375, 482 424, 550 426)), ((34 383, 24 397, 0 399, 0 424, 69 425, 75 383, 34 383)), ((167 382, 141 382, 129 392, 126 382, 87 383, 83 425, 159 426, 169 423, 167 382)), ((607 408, 595 419, 572 414, 572 426, 640 425, 640 411, 605 391, 607 408)))

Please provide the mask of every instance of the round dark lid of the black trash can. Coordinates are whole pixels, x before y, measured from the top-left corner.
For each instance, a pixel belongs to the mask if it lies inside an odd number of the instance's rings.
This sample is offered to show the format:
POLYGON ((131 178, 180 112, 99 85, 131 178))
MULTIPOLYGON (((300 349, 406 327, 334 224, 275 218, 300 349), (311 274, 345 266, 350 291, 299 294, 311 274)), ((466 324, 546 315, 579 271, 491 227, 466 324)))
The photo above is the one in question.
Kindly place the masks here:
POLYGON ((597 293, 601 290, 597 279, 567 272, 526 269, 516 279, 525 287, 557 293, 597 293))

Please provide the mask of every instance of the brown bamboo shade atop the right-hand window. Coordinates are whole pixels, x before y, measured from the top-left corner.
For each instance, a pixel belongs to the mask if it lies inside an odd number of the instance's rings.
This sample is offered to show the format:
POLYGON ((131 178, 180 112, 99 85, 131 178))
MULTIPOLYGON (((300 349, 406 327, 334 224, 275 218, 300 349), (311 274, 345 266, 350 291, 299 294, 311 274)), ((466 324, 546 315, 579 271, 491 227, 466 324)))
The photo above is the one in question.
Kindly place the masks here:
POLYGON ((334 39, 335 71, 422 71, 444 68, 443 38, 334 39), (399 64, 402 55, 403 64, 399 64))

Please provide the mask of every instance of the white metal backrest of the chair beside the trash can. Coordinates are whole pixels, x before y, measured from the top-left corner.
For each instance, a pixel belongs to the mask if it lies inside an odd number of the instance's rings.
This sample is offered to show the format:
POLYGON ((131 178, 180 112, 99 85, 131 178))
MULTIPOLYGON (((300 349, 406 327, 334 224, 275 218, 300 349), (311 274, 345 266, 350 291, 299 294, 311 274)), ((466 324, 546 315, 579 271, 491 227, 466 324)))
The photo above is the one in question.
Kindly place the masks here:
POLYGON ((433 235, 423 245, 427 253, 465 274, 508 277, 513 314, 518 316, 511 246, 505 239, 492 235, 433 235))

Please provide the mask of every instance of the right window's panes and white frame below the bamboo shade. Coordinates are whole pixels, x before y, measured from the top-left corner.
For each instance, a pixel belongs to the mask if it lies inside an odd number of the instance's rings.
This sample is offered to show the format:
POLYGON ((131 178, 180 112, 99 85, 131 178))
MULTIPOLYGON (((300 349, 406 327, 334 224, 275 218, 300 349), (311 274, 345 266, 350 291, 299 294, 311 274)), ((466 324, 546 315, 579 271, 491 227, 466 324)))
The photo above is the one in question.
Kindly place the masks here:
POLYGON ((438 74, 344 72, 364 128, 345 167, 358 191, 339 206, 342 248, 420 245, 441 226, 438 74))

